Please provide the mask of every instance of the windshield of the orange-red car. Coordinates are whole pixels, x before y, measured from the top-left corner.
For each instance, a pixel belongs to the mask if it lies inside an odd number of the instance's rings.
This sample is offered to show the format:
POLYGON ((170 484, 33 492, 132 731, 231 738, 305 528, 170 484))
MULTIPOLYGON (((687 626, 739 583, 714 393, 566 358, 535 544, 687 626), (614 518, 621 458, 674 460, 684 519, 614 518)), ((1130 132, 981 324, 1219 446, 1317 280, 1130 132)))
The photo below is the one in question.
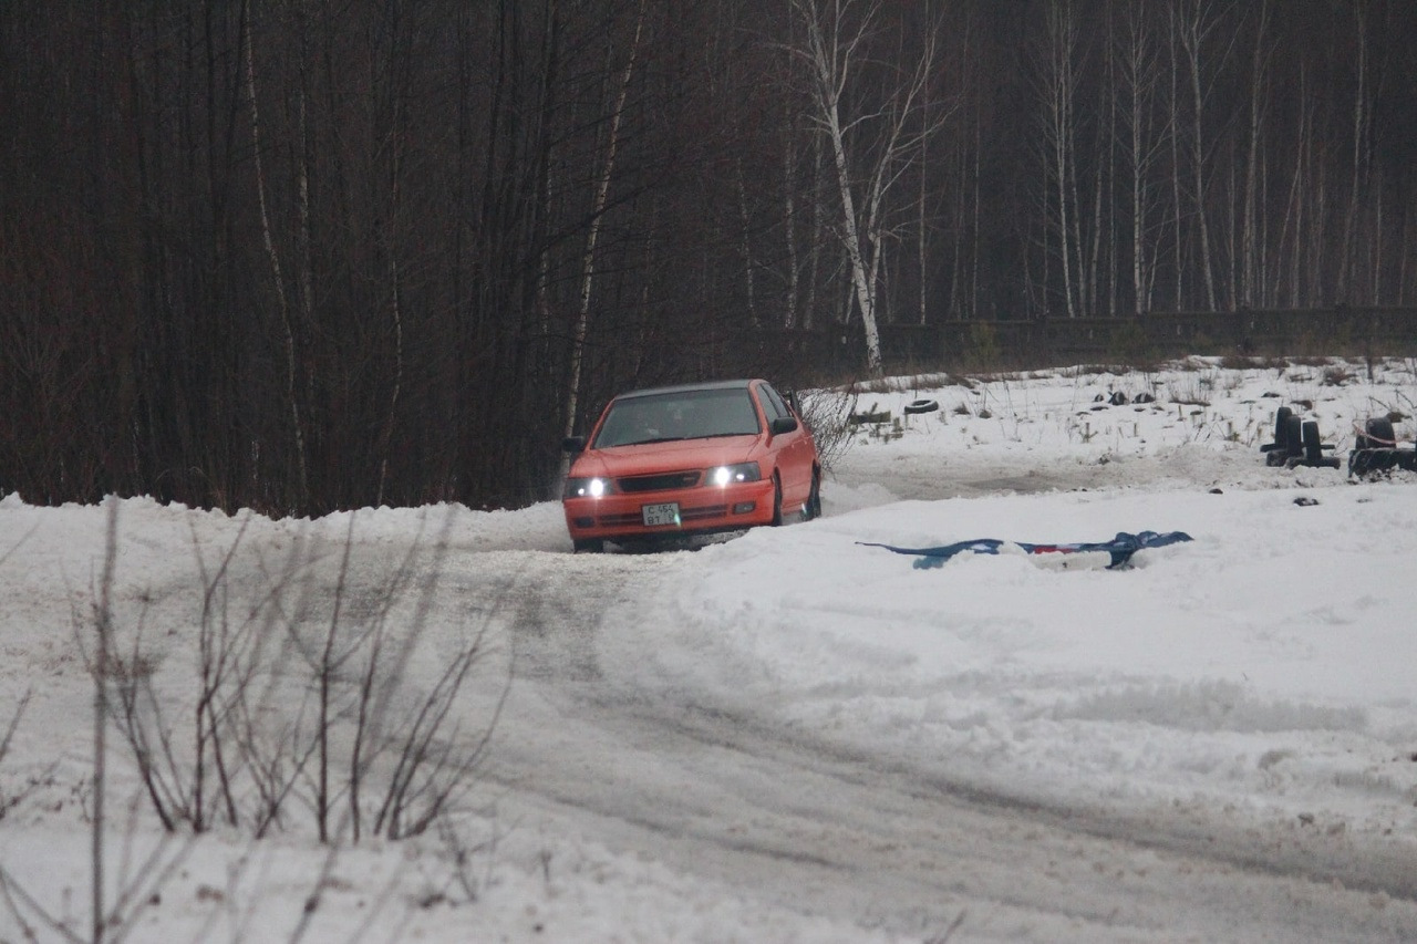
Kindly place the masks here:
POLYGON ((677 390, 616 400, 591 445, 604 449, 758 432, 758 412, 745 387, 677 390))

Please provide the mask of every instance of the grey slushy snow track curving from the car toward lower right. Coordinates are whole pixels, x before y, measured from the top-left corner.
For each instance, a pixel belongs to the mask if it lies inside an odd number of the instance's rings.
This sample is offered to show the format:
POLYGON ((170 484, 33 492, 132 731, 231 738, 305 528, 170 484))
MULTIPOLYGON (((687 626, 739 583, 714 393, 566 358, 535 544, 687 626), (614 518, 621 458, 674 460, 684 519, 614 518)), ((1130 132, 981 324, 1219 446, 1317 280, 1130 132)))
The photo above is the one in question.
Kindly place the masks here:
MULTIPOLYGON (((616 686, 601 614, 691 553, 487 554, 509 587, 512 703, 493 780, 503 814, 568 818, 754 899, 945 940, 1417 937, 1417 876, 1373 850, 1234 831, 1224 815, 1043 809, 898 761, 616 686), (504 570, 503 570, 504 568, 504 570)), ((513 816, 516 818, 516 816, 513 816)))

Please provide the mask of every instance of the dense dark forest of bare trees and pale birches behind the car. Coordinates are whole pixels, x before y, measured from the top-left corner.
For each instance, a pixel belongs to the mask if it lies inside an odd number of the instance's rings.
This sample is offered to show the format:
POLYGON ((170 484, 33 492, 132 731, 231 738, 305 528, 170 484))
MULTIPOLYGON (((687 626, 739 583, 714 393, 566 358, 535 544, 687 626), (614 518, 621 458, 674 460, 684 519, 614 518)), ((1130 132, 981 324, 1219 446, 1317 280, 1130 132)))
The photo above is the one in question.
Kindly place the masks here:
POLYGON ((1411 0, 9 3, 0 113, 35 503, 517 505, 823 333, 1417 300, 1411 0))

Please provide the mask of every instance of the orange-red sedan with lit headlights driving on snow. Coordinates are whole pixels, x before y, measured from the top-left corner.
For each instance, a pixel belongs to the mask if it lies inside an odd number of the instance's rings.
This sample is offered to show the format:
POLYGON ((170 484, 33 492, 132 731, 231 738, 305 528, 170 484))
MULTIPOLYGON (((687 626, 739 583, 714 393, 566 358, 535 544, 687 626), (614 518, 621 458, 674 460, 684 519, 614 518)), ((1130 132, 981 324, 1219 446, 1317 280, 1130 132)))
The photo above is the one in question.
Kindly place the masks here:
POLYGON ((561 503, 578 551, 822 512, 812 432, 765 380, 621 394, 565 449, 575 459, 561 503))

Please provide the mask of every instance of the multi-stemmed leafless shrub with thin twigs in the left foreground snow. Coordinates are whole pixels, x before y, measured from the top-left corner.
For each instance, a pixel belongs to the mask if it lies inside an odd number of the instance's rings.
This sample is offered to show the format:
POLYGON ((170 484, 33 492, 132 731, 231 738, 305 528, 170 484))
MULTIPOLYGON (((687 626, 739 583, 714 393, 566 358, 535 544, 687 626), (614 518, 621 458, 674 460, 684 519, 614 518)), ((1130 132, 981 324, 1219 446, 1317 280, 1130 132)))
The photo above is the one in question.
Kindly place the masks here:
POLYGON ((259 838, 307 818, 320 842, 400 839, 428 831, 470 788, 506 693, 468 729, 458 709, 483 634, 439 652, 431 675, 414 665, 446 524, 360 581, 354 522, 333 560, 302 539, 266 561, 244 547, 248 519, 213 566, 194 534, 190 668, 150 652, 146 614, 109 635, 109 717, 164 829, 221 822, 259 838))

